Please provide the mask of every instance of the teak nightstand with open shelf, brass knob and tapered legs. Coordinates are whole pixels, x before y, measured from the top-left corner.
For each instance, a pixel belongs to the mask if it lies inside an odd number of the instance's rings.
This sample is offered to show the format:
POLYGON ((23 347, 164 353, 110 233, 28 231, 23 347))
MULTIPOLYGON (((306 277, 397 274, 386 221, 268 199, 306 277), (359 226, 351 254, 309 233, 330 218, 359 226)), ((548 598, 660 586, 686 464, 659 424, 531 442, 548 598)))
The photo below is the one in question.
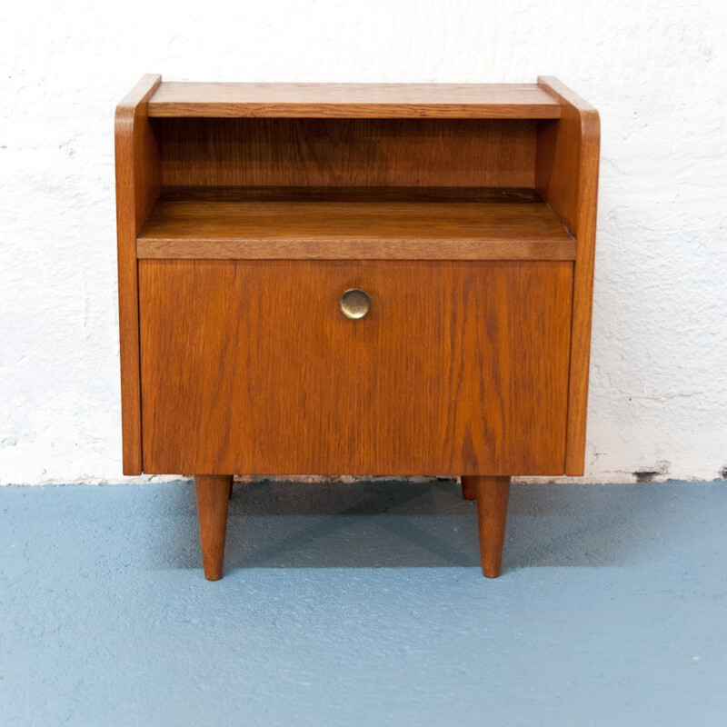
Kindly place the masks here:
POLYGON ((583 474, 599 119, 537 85, 161 83, 116 109, 124 473, 583 474))

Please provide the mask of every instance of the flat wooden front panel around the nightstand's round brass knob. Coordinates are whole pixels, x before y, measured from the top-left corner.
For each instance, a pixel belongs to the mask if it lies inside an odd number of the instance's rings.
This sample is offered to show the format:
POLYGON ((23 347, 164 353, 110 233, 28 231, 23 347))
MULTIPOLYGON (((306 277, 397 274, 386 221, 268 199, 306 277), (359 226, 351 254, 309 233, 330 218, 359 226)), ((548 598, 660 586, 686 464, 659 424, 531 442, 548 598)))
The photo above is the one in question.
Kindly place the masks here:
POLYGON ((572 288, 570 262, 139 261, 144 471, 563 473, 572 288))

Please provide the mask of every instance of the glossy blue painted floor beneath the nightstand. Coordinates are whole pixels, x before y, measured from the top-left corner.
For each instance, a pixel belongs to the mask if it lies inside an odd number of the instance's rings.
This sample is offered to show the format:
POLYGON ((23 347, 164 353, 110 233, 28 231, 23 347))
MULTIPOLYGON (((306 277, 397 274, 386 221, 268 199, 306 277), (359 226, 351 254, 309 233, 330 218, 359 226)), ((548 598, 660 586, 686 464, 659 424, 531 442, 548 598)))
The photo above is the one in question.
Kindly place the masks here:
POLYGON ((727 483, 0 488, 0 724, 724 725, 727 483))

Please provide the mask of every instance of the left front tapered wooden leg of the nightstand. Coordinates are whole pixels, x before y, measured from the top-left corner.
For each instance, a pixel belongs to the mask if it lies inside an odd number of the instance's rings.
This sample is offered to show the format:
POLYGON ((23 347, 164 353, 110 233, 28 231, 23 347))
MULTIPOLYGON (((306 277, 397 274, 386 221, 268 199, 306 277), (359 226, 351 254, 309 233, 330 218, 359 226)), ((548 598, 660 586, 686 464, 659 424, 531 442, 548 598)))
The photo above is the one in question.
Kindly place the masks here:
POLYGON ((222 578, 224 533, 227 530, 227 505, 230 502, 232 483, 232 475, 194 475, 202 564, 204 577, 208 581, 219 581, 222 578))

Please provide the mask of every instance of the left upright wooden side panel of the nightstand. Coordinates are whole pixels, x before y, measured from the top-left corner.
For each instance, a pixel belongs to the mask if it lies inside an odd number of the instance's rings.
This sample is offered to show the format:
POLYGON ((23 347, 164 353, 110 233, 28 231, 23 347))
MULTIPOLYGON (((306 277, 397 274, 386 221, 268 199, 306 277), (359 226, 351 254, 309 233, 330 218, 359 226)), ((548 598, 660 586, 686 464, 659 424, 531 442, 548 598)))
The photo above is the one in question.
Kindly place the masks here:
POLYGON ((161 76, 145 75, 116 107, 115 115, 116 233, 124 474, 142 472, 136 236, 152 209, 161 184, 159 152, 146 119, 147 100, 160 81, 161 76))

